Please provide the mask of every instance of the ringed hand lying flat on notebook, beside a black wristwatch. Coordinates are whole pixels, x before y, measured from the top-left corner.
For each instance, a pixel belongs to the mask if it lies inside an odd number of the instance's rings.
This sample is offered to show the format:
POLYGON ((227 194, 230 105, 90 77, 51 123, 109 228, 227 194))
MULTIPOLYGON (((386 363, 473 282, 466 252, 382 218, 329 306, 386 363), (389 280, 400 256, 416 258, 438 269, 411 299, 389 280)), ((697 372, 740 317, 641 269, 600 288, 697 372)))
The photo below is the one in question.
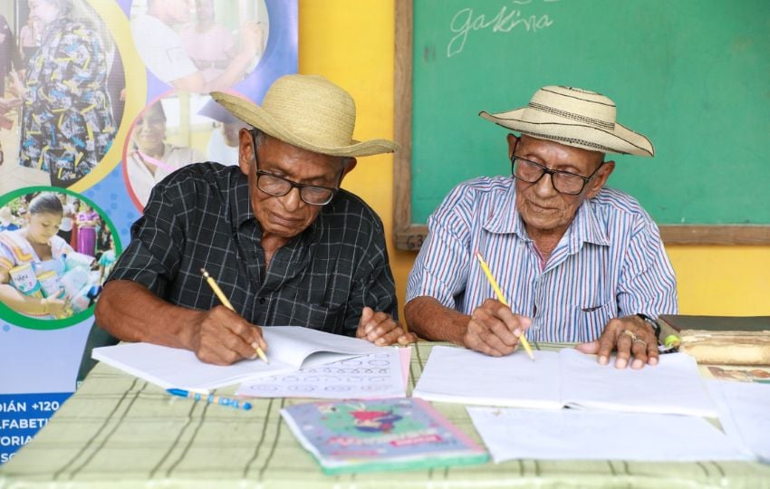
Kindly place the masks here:
POLYGON ((598 341, 580 343, 575 348, 583 353, 598 355, 602 365, 607 365, 612 350, 617 350, 616 369, 628 367, 631 355, 631 369, 641 369, 645 364, 658 364, 658 339, 650 325, 639 316, 612 319, 604 327, 598 341))

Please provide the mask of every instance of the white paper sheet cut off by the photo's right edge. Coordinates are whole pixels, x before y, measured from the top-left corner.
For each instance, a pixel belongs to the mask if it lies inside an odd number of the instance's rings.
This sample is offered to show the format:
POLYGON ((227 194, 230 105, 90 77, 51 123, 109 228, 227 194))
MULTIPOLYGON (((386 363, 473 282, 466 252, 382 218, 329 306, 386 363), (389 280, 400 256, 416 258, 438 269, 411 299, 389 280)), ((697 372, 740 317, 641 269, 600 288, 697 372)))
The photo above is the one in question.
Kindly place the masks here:
POLYGON ((709 380, 707 386, 727 435, 770 463, 770 384, 709 380))

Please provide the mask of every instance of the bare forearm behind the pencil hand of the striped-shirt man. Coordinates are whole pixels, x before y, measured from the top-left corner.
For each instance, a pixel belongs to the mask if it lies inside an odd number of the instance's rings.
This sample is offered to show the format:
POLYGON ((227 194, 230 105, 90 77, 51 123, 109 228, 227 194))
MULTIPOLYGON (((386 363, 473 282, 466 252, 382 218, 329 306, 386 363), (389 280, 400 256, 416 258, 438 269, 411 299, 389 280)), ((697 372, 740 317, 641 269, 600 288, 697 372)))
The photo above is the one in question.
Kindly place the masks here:
POLYGON ((464 345, 470 316, 443 306, 433 297, 415 297, 404 306, 409 332, 426 340, 451 341, 464 345))

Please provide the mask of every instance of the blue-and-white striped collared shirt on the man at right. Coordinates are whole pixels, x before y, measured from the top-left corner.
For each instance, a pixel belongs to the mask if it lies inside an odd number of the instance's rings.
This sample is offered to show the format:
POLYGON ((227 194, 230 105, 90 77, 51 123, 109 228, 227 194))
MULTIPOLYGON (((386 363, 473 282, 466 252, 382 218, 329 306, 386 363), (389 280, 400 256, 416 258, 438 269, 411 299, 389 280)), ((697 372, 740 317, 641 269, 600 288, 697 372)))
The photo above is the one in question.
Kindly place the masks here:
POLYGON ((515 210, 514 182, 478 177, 449 193, 428 218, 407 302, 430 296, 470 314, 495 297, 478 250, 513 312, 533 318, 531 340, 596 340, 611 318, 677 312, 676 278, 658 226, 635 199, 604 187, 583 201, 542 264, 515 210))

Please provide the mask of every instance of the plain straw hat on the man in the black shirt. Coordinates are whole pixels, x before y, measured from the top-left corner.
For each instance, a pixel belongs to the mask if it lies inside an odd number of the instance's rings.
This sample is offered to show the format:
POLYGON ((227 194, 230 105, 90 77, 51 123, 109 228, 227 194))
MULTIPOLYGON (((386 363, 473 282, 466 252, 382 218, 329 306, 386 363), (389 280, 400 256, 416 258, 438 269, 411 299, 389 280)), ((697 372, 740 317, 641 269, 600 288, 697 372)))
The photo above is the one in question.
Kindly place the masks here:
POLYGON ((322 76, 282 76, 267 90, 262 106, 220 91, 211 97, 245 123, 313 153, 362 157, 399 149, 388 139, 352 139, 355 101, 322 76))

